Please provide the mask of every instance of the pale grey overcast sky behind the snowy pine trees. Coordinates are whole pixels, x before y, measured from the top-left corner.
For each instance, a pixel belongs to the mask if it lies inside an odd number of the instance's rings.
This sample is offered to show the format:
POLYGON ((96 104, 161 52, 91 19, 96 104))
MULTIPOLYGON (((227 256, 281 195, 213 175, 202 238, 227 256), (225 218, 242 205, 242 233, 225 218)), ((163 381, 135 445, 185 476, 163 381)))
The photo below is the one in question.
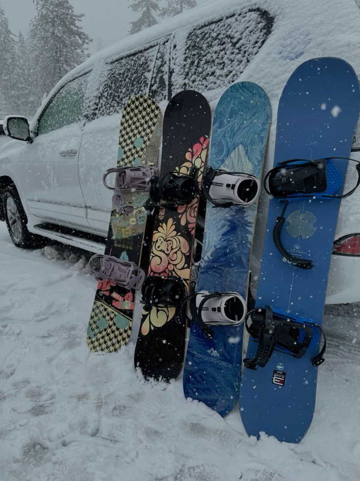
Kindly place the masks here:
MULTIPOLYGON (((129 24, 139 14, 133 12, 128 0, 69 0, 75 13, 84 13, 82 20, 84 31, 92 38, 89 50, 94 53, 126 37, 129 24)), ((197 0, 201 5, 206 0, 197 0)), ((163 5, 166 4, 162 0, 163 5)), ((33 0, 0 0, 1 8, 9 20, 10 30, 17 34, 19 30, 27 36, 29 21, 35 16, 33 0)))

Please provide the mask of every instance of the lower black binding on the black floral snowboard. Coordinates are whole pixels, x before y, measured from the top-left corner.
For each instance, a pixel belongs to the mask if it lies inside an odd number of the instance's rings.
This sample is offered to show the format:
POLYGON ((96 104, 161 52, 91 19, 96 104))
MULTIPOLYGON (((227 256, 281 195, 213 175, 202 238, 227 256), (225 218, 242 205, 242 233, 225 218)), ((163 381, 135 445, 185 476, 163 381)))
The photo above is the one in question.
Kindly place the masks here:
POLYGON ((148 276, 142 284, 141 295, 140 302, 147 311, 156 305, 181 308, 182 301, 187 296, 187 289, 178 277, 148 276))

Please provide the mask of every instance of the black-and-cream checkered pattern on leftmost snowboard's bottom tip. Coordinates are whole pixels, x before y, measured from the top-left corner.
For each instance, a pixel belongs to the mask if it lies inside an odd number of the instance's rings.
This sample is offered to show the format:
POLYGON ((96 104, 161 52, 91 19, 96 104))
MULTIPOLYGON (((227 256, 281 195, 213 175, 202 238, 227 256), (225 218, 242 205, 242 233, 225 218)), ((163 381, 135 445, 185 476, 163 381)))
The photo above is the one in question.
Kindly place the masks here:
POLYGON ((103 353, 114 353, 120 349, 121 346, 127 344, 131 335, 132 321, 129 321, 129 326, 125 329, 116 327, 114 319, 116 311, 111 309, 107 304, 95 301, 90 314, 89 325, 94 337, 87 337, 87 343, 90 351, 96 353, 102 351, 103 353), (98 320, 104 318, 108 321, 106 329, 98 327, 98 320))

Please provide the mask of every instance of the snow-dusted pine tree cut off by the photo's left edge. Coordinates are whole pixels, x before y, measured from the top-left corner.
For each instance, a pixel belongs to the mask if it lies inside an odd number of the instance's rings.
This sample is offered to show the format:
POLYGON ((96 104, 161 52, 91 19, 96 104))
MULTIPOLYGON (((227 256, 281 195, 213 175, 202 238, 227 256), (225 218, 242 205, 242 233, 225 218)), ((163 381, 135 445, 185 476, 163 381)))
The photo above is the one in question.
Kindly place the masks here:
POLYGON ((14 72, 15 42, 9 29, 9 21, 0 7, 0 113, 13 113, 16 92, 14 72))

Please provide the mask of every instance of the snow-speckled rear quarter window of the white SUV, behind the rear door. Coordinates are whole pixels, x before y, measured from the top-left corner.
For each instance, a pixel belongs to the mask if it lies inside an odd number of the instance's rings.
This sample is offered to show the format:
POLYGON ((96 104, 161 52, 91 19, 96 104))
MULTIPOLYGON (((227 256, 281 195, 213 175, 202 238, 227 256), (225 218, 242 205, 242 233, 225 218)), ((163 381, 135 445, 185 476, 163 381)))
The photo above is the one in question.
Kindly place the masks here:
POLYGON ((230 85, 261 49, 273 22, 267 11, 254 8, 198 25, 187 36, 176 87, 204 92, 230 85))

